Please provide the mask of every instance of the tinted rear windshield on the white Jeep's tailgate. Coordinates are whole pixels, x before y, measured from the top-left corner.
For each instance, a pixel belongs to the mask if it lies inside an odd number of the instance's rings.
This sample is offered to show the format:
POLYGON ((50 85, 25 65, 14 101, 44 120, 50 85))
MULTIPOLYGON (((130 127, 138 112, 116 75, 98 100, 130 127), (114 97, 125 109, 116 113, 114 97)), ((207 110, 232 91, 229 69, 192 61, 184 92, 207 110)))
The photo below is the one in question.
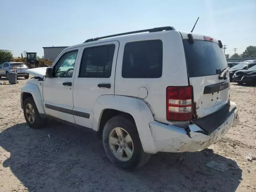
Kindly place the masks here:
POLYGON ((189 77, 215 75, 216 69, 224 70, 228 67, 224 52, 217 43, 194 40, 190 44, 187 39, 183 43, 189 77))

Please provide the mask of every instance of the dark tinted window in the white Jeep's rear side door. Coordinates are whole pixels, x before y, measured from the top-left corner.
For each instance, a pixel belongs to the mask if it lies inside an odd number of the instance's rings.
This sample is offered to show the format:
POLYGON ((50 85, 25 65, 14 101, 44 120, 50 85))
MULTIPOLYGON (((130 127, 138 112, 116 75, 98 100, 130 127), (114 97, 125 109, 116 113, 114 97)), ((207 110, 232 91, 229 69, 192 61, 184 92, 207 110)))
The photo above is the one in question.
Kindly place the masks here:
POLYGON ((80 64, 79 77, 109 78, 111 76, 115 45, 85 48, 80 64))

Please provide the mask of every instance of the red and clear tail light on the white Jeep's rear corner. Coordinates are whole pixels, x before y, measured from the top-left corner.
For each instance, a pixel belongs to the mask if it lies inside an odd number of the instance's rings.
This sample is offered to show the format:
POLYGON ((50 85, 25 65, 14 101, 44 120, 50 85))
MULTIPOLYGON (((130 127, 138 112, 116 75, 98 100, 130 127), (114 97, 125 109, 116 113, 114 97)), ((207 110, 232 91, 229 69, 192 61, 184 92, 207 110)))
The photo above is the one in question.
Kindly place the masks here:
POLYGON ((166 88, 166 119, 192 120, 193 87, 170 86, 166 88))

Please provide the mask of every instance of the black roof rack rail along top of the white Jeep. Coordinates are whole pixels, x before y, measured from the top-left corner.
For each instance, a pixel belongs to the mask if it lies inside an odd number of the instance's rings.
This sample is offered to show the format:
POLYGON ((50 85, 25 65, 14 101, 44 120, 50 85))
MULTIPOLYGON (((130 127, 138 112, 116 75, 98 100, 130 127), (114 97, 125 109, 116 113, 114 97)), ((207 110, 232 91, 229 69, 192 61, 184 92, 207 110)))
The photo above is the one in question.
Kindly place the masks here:
POLYGON ((96 37, 92 39, 86 40, 84 43, 91 42, 91 41, 96 41, 99 39, 105 39, 105 38, 110 38, 110 37, 116 37, 116 36, 122 36, 122 35, 129 35, 129 34, 135 34, 135 33, 143 33, 143 32, 158 32, 158 31, 170 31, 170 30, 175 30, 174 27, 172 26, 167 26, 167 27, 156 27, 152 29, 144 29, 144 30, 138 30, 138 31, 131 31, 131 32, 126 32, 126 33, 118 33, 114 35, 108 35, 108 36, 103 36, 103 37, 96 37))

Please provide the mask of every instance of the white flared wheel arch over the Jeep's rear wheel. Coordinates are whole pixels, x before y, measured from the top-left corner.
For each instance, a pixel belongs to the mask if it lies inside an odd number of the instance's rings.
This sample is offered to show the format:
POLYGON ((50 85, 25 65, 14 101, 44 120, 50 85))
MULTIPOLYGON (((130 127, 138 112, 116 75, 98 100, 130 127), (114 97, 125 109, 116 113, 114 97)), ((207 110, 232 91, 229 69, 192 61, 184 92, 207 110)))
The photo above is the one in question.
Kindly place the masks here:
POLYGON ((99 130, 100 119, 105 109, 114 109, 132 115, 137 126, 143 150, 148 153, 157 152, 149 126, 149 123, 154 122, 154 117, 144 100, 119 95, 102 95, 98 97, 93 109, 93 130, 99 130))

